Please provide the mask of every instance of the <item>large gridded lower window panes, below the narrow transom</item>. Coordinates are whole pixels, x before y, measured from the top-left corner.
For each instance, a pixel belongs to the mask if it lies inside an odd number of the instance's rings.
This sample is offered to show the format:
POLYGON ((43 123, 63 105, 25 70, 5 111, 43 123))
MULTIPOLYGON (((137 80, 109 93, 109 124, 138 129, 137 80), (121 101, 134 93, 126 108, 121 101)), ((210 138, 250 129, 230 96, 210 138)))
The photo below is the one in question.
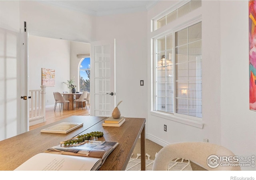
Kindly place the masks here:
POLYGON ((202 22, 154 44, 155 111, 202 118, 202 22))

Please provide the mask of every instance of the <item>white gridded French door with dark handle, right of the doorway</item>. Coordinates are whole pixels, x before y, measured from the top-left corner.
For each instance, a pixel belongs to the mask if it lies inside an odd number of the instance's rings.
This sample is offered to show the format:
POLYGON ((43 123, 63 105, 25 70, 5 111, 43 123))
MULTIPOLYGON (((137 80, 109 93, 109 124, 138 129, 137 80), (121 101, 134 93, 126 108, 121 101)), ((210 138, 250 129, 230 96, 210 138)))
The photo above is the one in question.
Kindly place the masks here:
POLYGON ((91 43, 91 116, 111 116, 115 107, 115 40, 91 43))

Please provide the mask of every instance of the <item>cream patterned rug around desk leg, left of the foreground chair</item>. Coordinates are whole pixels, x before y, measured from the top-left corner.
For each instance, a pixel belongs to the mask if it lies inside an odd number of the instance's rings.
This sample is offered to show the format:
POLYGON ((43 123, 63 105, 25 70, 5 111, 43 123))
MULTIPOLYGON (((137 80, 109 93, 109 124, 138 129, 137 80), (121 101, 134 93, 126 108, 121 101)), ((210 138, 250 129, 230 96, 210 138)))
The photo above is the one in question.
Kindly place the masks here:
MULTIPOLYGON (((130 158, 130 161, 127 164, 126 171, 140 171, 140 159, 138 159, 141 155, 137 154, 136 158, 130 158)), ((146 171, 152 171, 154 160, 150 160, 150 155, 146 154, 148 159, 146 159, 146 171)))

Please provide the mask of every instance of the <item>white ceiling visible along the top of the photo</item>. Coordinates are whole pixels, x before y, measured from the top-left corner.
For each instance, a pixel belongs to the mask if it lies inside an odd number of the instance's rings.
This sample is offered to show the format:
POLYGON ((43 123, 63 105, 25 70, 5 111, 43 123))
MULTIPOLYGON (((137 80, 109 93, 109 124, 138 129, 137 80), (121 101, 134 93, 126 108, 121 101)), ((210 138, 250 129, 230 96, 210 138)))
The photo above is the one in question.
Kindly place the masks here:
POLYGON ((76 10, 92 16, 147 11, 158 0, 38 0, 44 4, 76 10))

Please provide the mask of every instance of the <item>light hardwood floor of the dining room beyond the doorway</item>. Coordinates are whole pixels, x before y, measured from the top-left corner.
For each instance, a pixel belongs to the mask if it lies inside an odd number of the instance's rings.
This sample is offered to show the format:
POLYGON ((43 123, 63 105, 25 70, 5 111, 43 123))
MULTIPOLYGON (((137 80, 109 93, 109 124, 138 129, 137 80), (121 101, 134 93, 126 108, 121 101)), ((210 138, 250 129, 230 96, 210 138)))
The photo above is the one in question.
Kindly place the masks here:
POLYGON ((64 110, 61 112, 58 106, 56 107, 55 112, 54 112, 54 107, 46 108, 45 110, 46 122, 36 124, 34 126, 30 126, 29 130, 36 129, 47 124, 51 124, 52 122, 56 122, 64 118, 68 118, 69 116, 90 116, 90 108, 88 105, 86 106, 87 106, 87 109, 84 108, 84 110, 82 110, 82 108, 78 109, 78 107, 76 107, 74 110, 64 110))

